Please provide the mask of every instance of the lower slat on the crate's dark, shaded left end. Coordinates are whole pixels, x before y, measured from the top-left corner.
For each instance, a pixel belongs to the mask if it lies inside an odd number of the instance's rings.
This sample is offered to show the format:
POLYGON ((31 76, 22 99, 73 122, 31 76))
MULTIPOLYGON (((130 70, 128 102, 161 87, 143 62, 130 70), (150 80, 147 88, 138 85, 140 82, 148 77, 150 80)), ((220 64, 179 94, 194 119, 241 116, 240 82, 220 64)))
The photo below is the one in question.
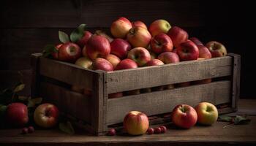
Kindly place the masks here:
POLYGON ((48 82, 40 82, 39 95, 42 96, 44 100, 56 104, 61 112, 72 115, 86 123, 91 123, 91 105, 89 104, 89 97, 48 82))

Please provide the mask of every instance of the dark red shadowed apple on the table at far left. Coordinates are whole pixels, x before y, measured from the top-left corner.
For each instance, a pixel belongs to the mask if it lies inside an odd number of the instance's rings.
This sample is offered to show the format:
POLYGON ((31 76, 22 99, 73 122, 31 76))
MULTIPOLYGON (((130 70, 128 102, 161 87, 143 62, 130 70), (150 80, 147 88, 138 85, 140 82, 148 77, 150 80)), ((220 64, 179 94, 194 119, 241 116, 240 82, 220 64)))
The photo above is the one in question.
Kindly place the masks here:
POLYGON ((6 118, 12 126, 25 126, 29 122, 28 108, 22 103, 9 104, 6 110, 6 118))

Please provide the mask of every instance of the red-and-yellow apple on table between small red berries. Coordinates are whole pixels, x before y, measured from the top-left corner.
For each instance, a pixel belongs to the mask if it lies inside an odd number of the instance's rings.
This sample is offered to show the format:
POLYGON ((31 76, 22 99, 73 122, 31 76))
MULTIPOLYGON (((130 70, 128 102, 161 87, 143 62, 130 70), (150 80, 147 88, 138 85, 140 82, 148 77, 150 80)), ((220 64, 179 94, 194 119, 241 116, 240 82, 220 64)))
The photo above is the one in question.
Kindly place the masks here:
POLYGON ((128 134, 145 134, 149 126, 148 117, 143 112, 131 111, 124 117, 123 125, 128 134))

